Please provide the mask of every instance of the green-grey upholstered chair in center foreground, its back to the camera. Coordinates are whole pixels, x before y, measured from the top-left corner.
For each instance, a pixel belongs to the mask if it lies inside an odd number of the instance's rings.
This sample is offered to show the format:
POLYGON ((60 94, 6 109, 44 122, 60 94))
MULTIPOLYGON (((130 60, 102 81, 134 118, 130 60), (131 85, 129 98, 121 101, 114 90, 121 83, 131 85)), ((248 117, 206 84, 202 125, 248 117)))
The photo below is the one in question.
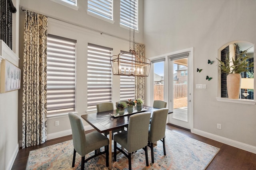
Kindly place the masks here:
POLYGON ((114 135, 114 161, 116 161, 116 150, 119 150, 128 158, 129 170, 132 169, 131 153, 139 149, 144 149, 146 166, 149 166, 147 145, 150 115, 150 112, 131 115, 129 117, 128 130, 114 135), (128 154, 122 148, 118 148, 117 143, 124 147, 128 154))

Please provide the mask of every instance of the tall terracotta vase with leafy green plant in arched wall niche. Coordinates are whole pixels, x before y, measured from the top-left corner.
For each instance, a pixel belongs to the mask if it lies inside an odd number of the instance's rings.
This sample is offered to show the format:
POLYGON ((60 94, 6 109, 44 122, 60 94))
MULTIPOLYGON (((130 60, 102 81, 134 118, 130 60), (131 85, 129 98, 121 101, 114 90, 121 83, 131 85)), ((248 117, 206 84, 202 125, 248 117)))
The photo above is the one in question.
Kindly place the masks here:
MULTIPOLYGON (((251 48, 251 47, 250 47, 251 48)), ((250 49, 249 48, 249 49, 250 49)), ((240 54, 236 54, 230 59, 229 53, 226 55, 225 61, 219 61, 219 68, 221 73, 226 73, 227 75, 227 90, 228 90, 228 98, 230 99, 238 99, 240 94, 240 86, 241 86, 241 72, 248 72, 248 68, 253 67, 254 63, 248 62, 248 57, 246 55, 246 49, 242 51, 240 54)))

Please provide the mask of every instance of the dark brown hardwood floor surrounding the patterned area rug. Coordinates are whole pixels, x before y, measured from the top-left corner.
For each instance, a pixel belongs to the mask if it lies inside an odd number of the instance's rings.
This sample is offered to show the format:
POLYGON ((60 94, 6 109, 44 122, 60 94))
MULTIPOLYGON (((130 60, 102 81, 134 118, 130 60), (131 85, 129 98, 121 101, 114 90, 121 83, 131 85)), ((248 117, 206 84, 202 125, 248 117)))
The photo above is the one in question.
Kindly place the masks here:
MULTIPOLYGON (((172 125, 166 125, 166 129, 220 148, 220 152, 218 152, 218 154, 214 157, 206 170, 256 170, 256 154, 235 147, 231 147, 229 145, 214 141, 212 139, 208 139, 206 137, 195 135, 193 133, 190 133, 189 131, 174 127, 172 125)), ((90 131, 86 131, 86 133, 88 132, 90 131)), ((72 139, 72 135, 52 139, 46 141, 46 143, 42 145, 20 149, 12 166, 12 170, 26 169, 28 154, 30 150, 68 141, 70 139, 72 139)))

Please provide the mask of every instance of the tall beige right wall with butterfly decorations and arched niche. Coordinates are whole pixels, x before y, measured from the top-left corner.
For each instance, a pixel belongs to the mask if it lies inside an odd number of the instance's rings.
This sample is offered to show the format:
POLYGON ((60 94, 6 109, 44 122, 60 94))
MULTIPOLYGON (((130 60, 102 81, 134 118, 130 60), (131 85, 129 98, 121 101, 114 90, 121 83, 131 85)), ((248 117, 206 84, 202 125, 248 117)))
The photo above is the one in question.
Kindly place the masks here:
POLYGON ((253 43, 255 51, 255 16, 254 0, 144 1, 147 57, 194 47, 194 132, 248 145, 254 152, 256 105, 217 102, 216 58, 222 45, 236 40, 253 43), (215 63, 209 65, 208 59, 215 63), (203 71, 198 73, 196 68, 203 71), (206 80, 206 75, 212 80, 206 80), (207 89, 195 89, 195 84, 206 84, 207 89), (222 130, 216 128, 217 123, 222 130))

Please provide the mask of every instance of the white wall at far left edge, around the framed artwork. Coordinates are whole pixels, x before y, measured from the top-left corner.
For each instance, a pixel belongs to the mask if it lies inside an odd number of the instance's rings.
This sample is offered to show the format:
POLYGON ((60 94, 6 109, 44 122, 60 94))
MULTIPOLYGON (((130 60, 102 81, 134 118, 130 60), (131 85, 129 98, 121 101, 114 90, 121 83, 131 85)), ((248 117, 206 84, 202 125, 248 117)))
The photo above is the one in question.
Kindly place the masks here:
MULTIPOLYGON (((13 2, 17 6, 17 2, 13 2)), ((1 57, 19 66, 19 47, 18 47, 18 30, 19 15, 12 14, 12 50, 4 44, 5 50, 2 51, 1 57), (3 52, 3 53, 2 53, 3 52)), ((0 57, 0 58, 1 58, 0 57)), ((1 63, 1 62, 0 62, 1 63)), ((0 170, 9 170, 18 153, 18 91, 0 93, 0 170)))

